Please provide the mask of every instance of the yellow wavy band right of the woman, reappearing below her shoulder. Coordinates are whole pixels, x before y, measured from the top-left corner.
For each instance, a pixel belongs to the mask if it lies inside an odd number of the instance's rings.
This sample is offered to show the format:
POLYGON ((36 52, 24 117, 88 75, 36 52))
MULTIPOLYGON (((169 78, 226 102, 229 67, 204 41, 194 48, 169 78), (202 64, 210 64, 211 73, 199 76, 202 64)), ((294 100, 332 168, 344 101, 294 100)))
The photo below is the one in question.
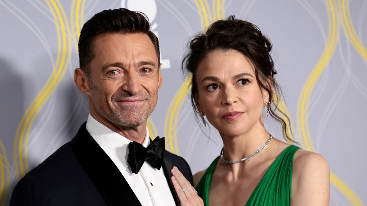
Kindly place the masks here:
MULTIPOLYGON (((329 25, 326 47, 323 51, 323 54, 321 55, 321 58, 317 62, 315 69, 313 69, 312 73, 306 80, 306 83, 302 88, 301 95, 299 96, 297 105, 297 120, 298 120, 297 126, 299 135, 300 137, 303 137, 304 146, 306 146, 306 148, 310 151, 315 151, 315 147, 313 146, 312 139, 310 138, 309 135, 309 125, 308 125, 309 99, 313 91, 313 88, 316 85, 317 80, 323 73, 326 65, 331 59, 331 56, 333 56, 334 54, 339 38, 339 23, 338 18, 335 17, 336 15, 334 4, 337 5, 334 0, 333 1, 329 0, 329 2, 326 1, 328 11, 328 25, 329 25)), ((333 184, 348 199, 351 205, 363 205, 360 198, 355 194, 355 192, 341 179, 339 179, 333 172, 330 173, 330 180, 331 184, 333 184)))

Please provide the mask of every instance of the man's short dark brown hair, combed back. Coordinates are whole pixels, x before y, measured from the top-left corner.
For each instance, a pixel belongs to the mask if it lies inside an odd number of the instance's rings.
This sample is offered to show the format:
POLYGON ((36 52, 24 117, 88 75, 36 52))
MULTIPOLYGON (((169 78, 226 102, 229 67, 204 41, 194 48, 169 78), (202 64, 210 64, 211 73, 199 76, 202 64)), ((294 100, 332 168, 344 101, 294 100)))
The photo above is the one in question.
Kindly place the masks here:
POLYGON ((160 64, 159 41, 150 31, 148 16, 142 12, 130 11, 126 8, 104 10, 95 14, 83 26, 79 37, 79 66, 90 77, 90 62, 94 58, 94 39, 106 33, 144 33, 152 41, 160 64))

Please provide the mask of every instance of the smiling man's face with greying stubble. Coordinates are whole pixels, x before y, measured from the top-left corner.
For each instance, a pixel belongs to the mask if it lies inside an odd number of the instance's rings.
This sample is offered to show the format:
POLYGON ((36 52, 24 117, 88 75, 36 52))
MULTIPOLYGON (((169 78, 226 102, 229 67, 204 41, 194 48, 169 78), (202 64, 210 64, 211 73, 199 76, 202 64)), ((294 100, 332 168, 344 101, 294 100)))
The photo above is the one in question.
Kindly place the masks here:
POLYGON ((102 121, 136 128, 153 112, 162 85, 160 65, 147 34, 102 34, 90 63, 91 112, 102 121))

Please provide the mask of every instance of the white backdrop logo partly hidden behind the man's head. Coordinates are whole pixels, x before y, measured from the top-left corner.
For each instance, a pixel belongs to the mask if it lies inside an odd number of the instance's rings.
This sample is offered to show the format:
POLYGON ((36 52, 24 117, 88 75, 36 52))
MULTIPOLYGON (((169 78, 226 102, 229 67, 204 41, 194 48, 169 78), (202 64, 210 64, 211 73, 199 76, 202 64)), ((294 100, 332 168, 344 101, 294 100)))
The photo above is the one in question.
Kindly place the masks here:
MULTIPOLYGON (((131 11, 141 11, 148 16, 150 24, 152 25, 152 32, 158 37, 158 27, 157 22, 154 22, 157 16, 157 3, 155 0, 121 0, 121 7, 127 8, 131 11)), ((160 48, 159 48, 160 49, 160 48)), ((163 59, 162 52, 160 52, 160 62, 162 63, 161 69, 170 69, 171 61, 170 59, 163 59)))

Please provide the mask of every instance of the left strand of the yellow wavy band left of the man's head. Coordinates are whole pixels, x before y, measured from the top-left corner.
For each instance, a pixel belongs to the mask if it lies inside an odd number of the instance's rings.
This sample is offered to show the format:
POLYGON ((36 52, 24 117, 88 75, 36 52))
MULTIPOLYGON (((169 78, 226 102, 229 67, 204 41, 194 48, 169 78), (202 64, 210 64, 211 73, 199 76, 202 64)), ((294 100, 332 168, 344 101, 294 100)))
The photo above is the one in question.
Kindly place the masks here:
MULTIPOLYGON (((54 19, 56 19, 53 10, 51 10, 51 14, 54 16, 54 19)), ((56 31, 57 31, 56 33, 57 33, 57 42, 58 42, 58 47, 57 48, 58 48, 58 50, 57 50, 57 59, 56 59, 56 62, 55 62, 54 69, 52 70, 52 73, 51 73, 50 77, 48 78, 46 84, 43 86, 43 88, 41 89, 41 91, 37 94, 36 98, 33 99, 32 103, 29 105, 29 107, 27 108, 27 110, 23 114, 21 120, 19 121, 17 130, 15 132, 14 146, 13 146, 13 157, 14 157, 15 172, 16 172, 16 175, 17 175, 17 179, 18 180, 21 177, 20 177, 20 174, 19 174, 19 169, 18 169, 19 166, 18 166, 18 159, 17 158, 19 158, 19 161, 20 161, 20 158, 22 158, 22 156, 19 156, 19 154, 17 156, 17 146, 18 146, 18 144, 19 144, 19 147, 21 147, 19 133, 20 133, 20 131, 22 129, 22 126, 23 126, 23 124, 25 122, 26 117, 30 113, 30 110, 34 107, 34 105, 36 104, 36 102, 38 101, 38 99, 40 98, 40 96, 46 91, 48 85, 50 84, 50 82, 53 79, 53 76, 56 75, 56 70, 57 70, 56 65, 58 65, 58 63, 60 61, 60 57, 61 57, 61 35, 59 34, 59 24, 58 24, 58 21, 55 21, 55 25, 56 25, 56 31), (19 139, 19 141, 18 141, 18 139, 19 139)))

